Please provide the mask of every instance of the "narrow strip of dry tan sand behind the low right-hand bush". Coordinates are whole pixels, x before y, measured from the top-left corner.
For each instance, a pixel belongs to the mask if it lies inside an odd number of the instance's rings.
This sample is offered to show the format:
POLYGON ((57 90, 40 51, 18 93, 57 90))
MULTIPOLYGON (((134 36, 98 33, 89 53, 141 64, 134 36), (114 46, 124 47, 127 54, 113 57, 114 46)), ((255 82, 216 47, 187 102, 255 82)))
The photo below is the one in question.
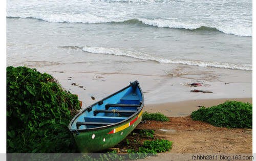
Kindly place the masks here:
POLYGON ((191 112, 199 109, 199 106, 211 107, 229 101, 241 101, 252 103, 252 98, 220 98, 220 99, 198 99, 178 102, 145 104, 144 111, 163 113, 167 117, 185 117, 191 112))

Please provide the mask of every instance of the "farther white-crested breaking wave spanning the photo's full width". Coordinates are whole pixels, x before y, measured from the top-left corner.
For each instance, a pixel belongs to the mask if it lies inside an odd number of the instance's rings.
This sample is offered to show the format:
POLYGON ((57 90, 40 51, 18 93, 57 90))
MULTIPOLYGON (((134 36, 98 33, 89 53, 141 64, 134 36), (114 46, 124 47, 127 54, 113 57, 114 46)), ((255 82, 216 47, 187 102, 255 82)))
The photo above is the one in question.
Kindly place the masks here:
POLYGON ((7 18, 35 18, 48 22, 69 22, 69 23, 85 23, 85 24, 134 24, 146 25, 158 28, 170 29, 185 29, 191 31, 219 31, 225 34, 233 34, 238 36, 252 36, 252 29, 244 26, 217 26, 211 24, 194 24, 192 22, 182 22, 175 19, 146 19, 146 18, 131 18, 131 19, 111 19, 99 17, 92 14, 73 14, 73 15, 37 15, 37 16, 12 16, 7 18))

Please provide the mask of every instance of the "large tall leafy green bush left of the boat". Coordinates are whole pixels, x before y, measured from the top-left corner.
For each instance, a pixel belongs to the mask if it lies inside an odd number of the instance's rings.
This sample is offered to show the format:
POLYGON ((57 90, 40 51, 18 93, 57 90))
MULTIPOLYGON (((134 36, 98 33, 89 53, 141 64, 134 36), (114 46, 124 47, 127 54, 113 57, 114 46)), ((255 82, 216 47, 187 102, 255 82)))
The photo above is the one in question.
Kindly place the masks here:
POLYGON ((7 153, 71 153, 68 129, 77 96, 49 74, 7 67, 7 153))

